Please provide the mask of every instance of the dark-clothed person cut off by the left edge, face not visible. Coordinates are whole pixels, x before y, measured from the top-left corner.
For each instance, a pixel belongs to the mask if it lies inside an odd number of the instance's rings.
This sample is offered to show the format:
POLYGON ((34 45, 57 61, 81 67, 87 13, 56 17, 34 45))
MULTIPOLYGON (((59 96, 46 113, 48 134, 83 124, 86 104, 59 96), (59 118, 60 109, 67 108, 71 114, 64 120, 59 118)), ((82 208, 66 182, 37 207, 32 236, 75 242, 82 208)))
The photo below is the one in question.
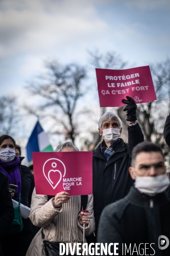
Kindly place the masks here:
MULTIPOLYGON (((3 172, 0 172, 0 239, 11 227, 13 219, 14 208, 11 200, 11 193, 9 192, 8 178, 3 172)), ((3 256, 1 244, 0 256, 3 256)))

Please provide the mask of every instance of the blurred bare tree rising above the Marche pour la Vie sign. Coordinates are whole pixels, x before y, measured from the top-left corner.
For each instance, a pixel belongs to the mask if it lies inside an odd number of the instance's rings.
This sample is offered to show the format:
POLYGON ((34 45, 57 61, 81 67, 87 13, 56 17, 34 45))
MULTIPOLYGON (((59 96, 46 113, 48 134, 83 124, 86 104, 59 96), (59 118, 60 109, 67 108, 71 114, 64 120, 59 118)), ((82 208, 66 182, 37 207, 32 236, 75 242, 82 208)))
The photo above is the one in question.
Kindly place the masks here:
MULTIPOLYGON (((50 117, 57 124, 53 134, 65 133, 73 143, 77 132, 77 123, 74 119, 78 100, 85 94, 82 81, 86 78, 85 67, 78 64, 61 65, 59 62, 46 61, 47 73, 41 75, 37 80, 28 84, 27 89, 32 95, 43 98, 37 110, 39 117, 50 117), (62 126, 59 131, 58 125, 62 126)), ((34 113, 31 108, 29 112, 34 113)))

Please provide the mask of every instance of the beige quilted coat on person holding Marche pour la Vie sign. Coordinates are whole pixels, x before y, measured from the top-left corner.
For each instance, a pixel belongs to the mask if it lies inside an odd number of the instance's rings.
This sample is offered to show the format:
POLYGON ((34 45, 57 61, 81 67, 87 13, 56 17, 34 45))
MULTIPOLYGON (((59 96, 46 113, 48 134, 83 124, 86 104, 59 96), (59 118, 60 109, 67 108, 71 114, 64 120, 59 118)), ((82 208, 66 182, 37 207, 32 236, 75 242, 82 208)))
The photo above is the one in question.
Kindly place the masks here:
MULTIPOLYGON (((53 200, 48 201, 47 195, 36 195, 35 189, 32 194, 31 201, 31 212, 29 215, 30 220, 37 227, 45 227, 44 240, 54 241, 56 234, 56 219, 57 215, 62 212, 62 206, 60 208, 54 208, 53 200)), ((81 205, 81 196, 79 196, 79 205, 81 205)), ((86 210, 89 211, 91 215, 90 222, 87 227, 85 227, 85 236, 91 235, 95 230, 94 221, 94 211, 93 211, 93 195, 88 195, 88 204, 86 210)), ((80 230, 83 232, 83 226, 79 223, 77 219, 77 224, 80 230)), ((26 256, 42 256, 45 255, 43 250, 43 240, 41 235, 41 230, 35 235, 34 239, 28 248, 26 256), (44 253, 44 254, 43 254, 44 253)))

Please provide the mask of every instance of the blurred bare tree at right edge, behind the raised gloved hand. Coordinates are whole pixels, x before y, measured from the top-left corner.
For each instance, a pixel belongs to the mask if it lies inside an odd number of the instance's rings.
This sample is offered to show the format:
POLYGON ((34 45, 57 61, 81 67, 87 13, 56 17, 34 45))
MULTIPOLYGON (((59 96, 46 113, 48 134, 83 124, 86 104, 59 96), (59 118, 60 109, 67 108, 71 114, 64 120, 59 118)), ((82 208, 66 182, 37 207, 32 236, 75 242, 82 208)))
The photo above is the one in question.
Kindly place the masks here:
MULTIPOLYGON (((163 129, 167 114, 170 112, 170 58, 157 64, 150 64, 150 70, 157 100, 138 104, 138 122, 145 140, 160 144, 166 155, 169 149, 164 143, 163 129)), ((124 126, 127 126, 122 109, 118 109, 118 114, 124 126)))

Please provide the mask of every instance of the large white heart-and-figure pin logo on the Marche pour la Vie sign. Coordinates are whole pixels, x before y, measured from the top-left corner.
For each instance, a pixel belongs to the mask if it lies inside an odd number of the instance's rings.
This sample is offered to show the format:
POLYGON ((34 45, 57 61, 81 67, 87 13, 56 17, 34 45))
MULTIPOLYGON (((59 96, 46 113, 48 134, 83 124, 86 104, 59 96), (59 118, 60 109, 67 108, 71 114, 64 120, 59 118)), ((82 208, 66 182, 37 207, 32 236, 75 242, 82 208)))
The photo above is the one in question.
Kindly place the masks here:
POLYGON ((43 165, 43 174, 44 174, 45 178, 48 180, 48 182, 50 183, 50 185, 52 186, 53 189, 55 189, 57 187, 57 185, 60 183, 62 177, 65 177, 65 173, 66 173, 66 169, 65 169, 64 163, 61 160, 57 159, 57 158, 50 158, 47 161, 45 161, 45 163, 43 165), (49 171, 46 172, 45 171, 45 166, 48 165, 48 168, 49 168, 49 163, 50 163, 50 168, 52 167, 53 169, 50 169, 50 170, 48 169, 49 171), (61 170, 56 169, 57 164, 59 166, 61 166, 61 163, 62 163, 62 167, 64 167, 64 175, 63 176, 62 176, 61 170), (45 175, 45 172, 46 172, 46 174, 48 173, 48 175, 45 175), (52 173, 55 173, 55 172, 57 174, 59 174, 59 178, 57 180, 55 179, 55 181, 52 181, 50 175, 52 173))

